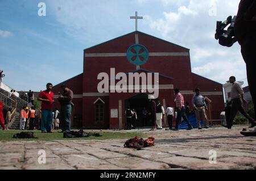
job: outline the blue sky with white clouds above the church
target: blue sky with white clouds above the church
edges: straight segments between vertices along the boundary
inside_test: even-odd
[[[46,3],[46,16],[38,3]],[[44,90],[83,70],[83,50],[135,30],[191,49],[192,71],[225,83],[246,81],[240,47],[221,47],[216,21],[237,14],[239,0],[1,0],[0,69],[16,90]],[[216,9],[215,9],[216,7]],[[212,11],[213,10],[213,11]],[[210,13],[209,13],[210,12]],[[213,14],[212,14],[213,13]]]

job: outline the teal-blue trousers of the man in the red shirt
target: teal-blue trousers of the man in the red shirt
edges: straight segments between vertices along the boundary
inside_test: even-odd
[[[41,131],[52,130],[52,110],[42,110]]]

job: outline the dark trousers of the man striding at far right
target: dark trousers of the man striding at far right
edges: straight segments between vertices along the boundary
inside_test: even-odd
[[[254,121],[252,117],[250,117],[245,109],[242,106],[242,99],[241,98],[237,98],[237,99],[232,99],[232,107],[231,107],[231,111],[230,111],[230,116],[229,116],[229,120],[228,120],[228,127],[232,127],[233,125],[233,120],[234,117],[236,117],[237,115],[237,111],[240,111],[241,114],[243,116],[245,116],[251,123]]]

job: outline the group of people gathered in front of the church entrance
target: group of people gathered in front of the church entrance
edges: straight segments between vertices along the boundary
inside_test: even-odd
[[[154,131],[156,129],[163,129],[163,127],[167,128],[169,127],[172,131],[179,131],[179,124],[181,123],[181,118],[187,123],[188,129],[193,129],[191,123],[189,123],[188,115],[191,114],[191,112],[196,113],[196,120],[198,129],[202,129],[200,121],[203,119],[205,128],[209,128],[209,122],[207,119],[207,115],[205,113],[205,110],[207,110],[207,104],[205,103],[204,96],[200,94],[200,89],[196,89],[196,95],[192,98],[192,105],[193,110],[190,109],[189,103],[184,103],[183,95],[180,93],[179,89],[175,89],[175,108],[171,107],[170,104],[167,104],[166,110],[164,110],[164,107],[160,103],[159,99],[155,99],[154,96],[150,96],[149,104],[148,104],[148,110],[144,107],[142,110],[142,122],[143,124],[146,123],[144,121],[145,119],[149,119],[150,123],[152,124],[151,131]],[[167,116],[168,125],[163,121],[163,116]],[[126,116],[126,129],[131,129],[132,127],[136,128],[136,122],[137,122],[137,113],[135,110],[131,110],[130,107],[127,107],[125,110],[125,116]],[[172,120],[175,117],[176,124],[175,127],[172,127]],[[133,126],[134,125],[134,126]]]

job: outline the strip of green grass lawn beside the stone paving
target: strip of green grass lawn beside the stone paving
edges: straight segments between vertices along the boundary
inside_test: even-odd
[[[41,131],[32,131],[34,132],[34,136],[38,137],[38,139],[18,139],[13,138],[13,135],[16,133],[20,133],[20,130],[6,130],[0,131],[0,141],[54,141],[54,140],[112,140],[112,139],[129,139],[135,136],[146,138],[146,135],[139,132],[131,132],[131,133],[121,133],[121,132],[104,132],[104,131],[85,131],[101,133],[102,136],[95,137],[89,136],[84,138],[63,138],[63,133],[58,133],[54,131],[54,133],[41,133]],[[25,131],[25,132],[28,132]]]

